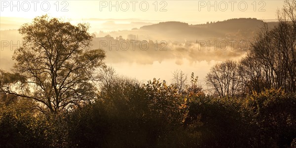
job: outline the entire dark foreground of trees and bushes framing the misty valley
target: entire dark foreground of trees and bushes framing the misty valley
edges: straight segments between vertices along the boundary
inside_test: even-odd
[[[296,0],[248,54],[173,84],[115,74],[90,49],[86,24],[40,16],[24,24],[11,72],[0,71],[0,148],[295,148]]]

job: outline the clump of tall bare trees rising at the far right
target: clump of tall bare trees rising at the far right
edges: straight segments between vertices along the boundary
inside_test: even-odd
[[[240,62],[240,72],[251,91],[283,88],[296,92],[296,0],[285,0],[277,14],[278,25],[270,29],[264,24],[250,53]]]

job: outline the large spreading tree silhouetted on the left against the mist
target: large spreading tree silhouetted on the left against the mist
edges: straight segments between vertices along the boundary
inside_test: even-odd
[[[67,110],[95,99],[94,72],[104,66],[105,52],[91,50],[89,26],[62,22],[47,15],[24,24],[19,33],[23,45],[15,50],[13,82],[2,83],[1,91],[39,103],[40,111]],[[1,81],[3,81],[1,79]]]

